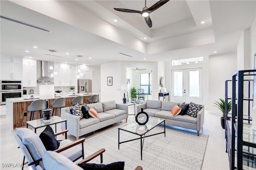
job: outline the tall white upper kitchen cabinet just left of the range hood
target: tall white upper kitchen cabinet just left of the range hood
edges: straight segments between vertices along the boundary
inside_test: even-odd
[[[36,87],[36,60],[23,59],[23,87]]]

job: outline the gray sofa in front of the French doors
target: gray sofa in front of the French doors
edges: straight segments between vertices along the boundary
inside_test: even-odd
[[[199,136],[204,124],[204,106],[198,111],[196,117],[191,117],[189,115],[173,116],[170,111],[175,105],[179,106],[179,103],[147,100],[144,104],[137,105],[136,111],[138,113],[143,108],[143,111],[148,113],[149,116],[164,118],[167,125],[196,130],[197,136]]]

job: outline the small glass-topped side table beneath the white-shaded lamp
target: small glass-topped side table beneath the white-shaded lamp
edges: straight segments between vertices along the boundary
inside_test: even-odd
[[[36,133],[36,129],[40,128],[40,127],[44,127],[47,125],[55,125],[55,133],[56,133],[56,125],[57,123],[62,123],[65,122],[66,125],[66,129],[67,129],[67,120],[66,119],[62,119],[61,117],[58,116],[52,116],[50,122],[44,122],[44,119],[36,119],[36,120],[31,120],[31,121],[27,121],[27,128],[28,125],[30,125],[32,128],[35,129],[35,133]]]

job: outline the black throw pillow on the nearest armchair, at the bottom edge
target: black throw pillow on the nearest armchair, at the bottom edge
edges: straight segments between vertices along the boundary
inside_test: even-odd
[[[113,162],[111,164],[78,164],[84,170],[124,170],[124,162]]]

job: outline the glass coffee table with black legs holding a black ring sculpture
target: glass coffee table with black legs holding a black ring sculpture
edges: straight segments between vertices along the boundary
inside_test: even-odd
[[[164,123],[164,131],[163,132],[145,136],[146,133],[148,133],[150,130],[154,129],[154,127],[156,127],[157,125],[160,125],[161,123]],[[131,139],[128,141],[120,142],[120,130],[130,132],[135,135],[139,135],[140,137],[138,137],[136,139]],[[118,150],[119,150],[120,144],[140,139],[140,157],[142,160],[142,149],[143,149],[145,137],[150,137],[150,136],[158,135],[161,133],[164,133],[164,137],[165,137],[165,119],[158,118],[158,117],[149,117],[146,125],[138,125],[138,123],[136,123],[136,121],[130,122],[127,125],[125,125],[124,127],[118,128]],[[142,141],[142,138],[143,138],[143,141]]]

